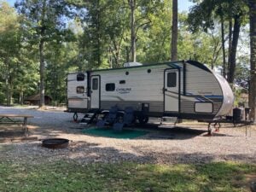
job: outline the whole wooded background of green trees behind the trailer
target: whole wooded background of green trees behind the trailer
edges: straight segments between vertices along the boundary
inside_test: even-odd
[[[70,72],[190,59],[218,69],[238,98],[249,93],[255,119],[255,0],[194,0],[189,12],[177,3],[0,1],[0,103],[66,102]]]

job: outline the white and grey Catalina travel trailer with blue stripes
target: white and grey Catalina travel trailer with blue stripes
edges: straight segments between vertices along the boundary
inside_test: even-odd
[[[113,106],[148,117],[214,119],[232,109],[228,82],[198,61],[92,70],[67,75],[67,112],[101,113]]]

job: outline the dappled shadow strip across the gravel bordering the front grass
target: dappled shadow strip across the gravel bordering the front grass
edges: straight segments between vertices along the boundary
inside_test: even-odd
[[[13,147],[12,147],[13,146]],[[175,146],[173,147],[175,149]],[[234,160],[246,163],[256,163],[253,154],[211,154],[205,153],[177,153],[172,151],[155,152],[143,147],[131,147],[125,152],[113,147],[102,147],[97,143],[84,141],[71,142],[67,148],[43,148],[37,143],[11,143],[0,145],[1,160],[19,160],[20,163],[38,164],[58,160],[72,160],[79,163],[120,163],[131,161],[137,163],[166,163],[166,164],[200,164],[216,161]]]

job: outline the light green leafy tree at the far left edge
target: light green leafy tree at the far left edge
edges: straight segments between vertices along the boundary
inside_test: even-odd
[[[0,74],[4,80],[6,104],[13,103],[14,82],[20,71],[20,25],[15,9],[6,2],[0,2]]]

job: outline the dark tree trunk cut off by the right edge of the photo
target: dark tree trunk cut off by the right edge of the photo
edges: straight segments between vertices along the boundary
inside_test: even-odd
[[[250,38],[251,38],[251,81],[249,92],[250,119],[256,123],[256,2],[249,0]]]

